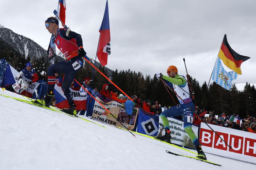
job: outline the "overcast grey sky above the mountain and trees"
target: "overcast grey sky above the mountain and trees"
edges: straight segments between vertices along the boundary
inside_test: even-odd
[[[54,16],[58,0],[0,0],[0,24],[47,49],[44,22]],[[106,0],[66,0],[66,25],[81,34],[88,56],[95,59]],[[234,83],[256,83],[255,0],[109,0],[110,69],[166,74],[175,65],[202,85],[208,83],[224,34],[240,55]],[[97,60],[98,61],[98,60]],[[227,67],[226,71],[231,71]]]

